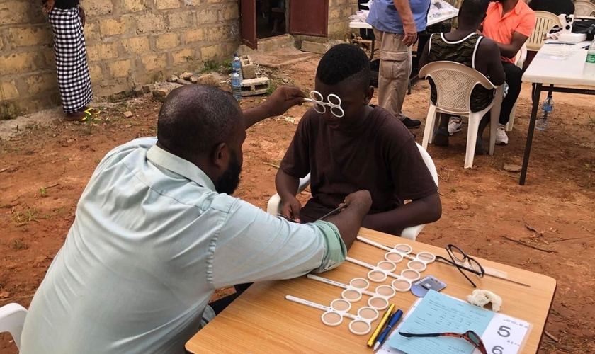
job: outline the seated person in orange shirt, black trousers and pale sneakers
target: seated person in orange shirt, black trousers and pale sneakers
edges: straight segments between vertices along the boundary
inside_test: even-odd
[[[523,70],[514,64],[516,54],[528,40],[536,25],[536,15],[523,0],[491,0],[485,19],[478,32],[496,42],[502,55],[502,66],[506,73],[509,89],[500,110],[500,120],[496,135],[496,144],[508,144],[504,125],[509,122],[510,113],[521,93]],[[459,125],[460,123],[455,123]],[[451,129],[449,123],[448,130]],[[480,132],[481,133],[481,132]]]

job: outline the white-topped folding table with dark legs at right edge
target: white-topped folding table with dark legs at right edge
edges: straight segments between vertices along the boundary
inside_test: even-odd
[[[535,59],[533,59],[525,74],[523,74],[523,82],[531,82],[533,84],[531,94],[533,109],[531,110],[531,120],[527,132],[523,169],[521,169],[521,180],[519,181],[520,185],[525,185],[529,155],[531,154],[531,143],[533,142],[533,132],[535,131],[537,112],[541,101],[541,92],[547,91],[550,94],[552,92],[563,92],[595,95],[595,76],[583,75],[584,62],[587,59],[587,50],[584,47],[589,44],[589,42],[581,42],[572,48],[568,48],[565,45],[546,43],[541,47]],[[555,52],[558,54],[556,55]],[[591,86],[593,89],[568,86]]]

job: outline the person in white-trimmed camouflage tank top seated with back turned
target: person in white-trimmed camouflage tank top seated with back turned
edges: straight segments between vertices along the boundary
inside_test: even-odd
[[[504,84],[504,68],[500,61],[498,45],[493,40],[476,33],[487,11],[489,0],[465,0],[460,6],[457,30],[450,33],[434,33],[426,42],[424,52],[419,59],[419,68],[436,61],[458,62],[471,67],[487,76],[492,84]],[[436,86],[430,80],[431,100],[436,103]],[[479,112],[492,103],[494,91],[477,85],[471,94],[471,110]],[[460,119],[460,118],[459,118]],[[489,123],[486,115],[480,124],[483,132]],[[460,129],[460,128],[459,128]],[[448,115],[441,115],[440,127],[434,137],[434,144],[448,147]],[[477,136],[476,154],[483,154],[481,135]]]

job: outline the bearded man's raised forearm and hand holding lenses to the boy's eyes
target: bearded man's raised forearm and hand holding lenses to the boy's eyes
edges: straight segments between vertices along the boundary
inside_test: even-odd
[[[282,115],[304,102],[305,94],[295,86],[279,86],[264,103],[244,110],[246,129],[266,118]]]

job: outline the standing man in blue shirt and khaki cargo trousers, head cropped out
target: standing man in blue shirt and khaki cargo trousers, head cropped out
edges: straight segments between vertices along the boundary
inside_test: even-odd
[[[399,118],[409,129],[419,120],[402,113],[412,70],[411,46],[417,33],[426,30],[431,0],[374,0],[368,15],[380,43],[378,105]]]

